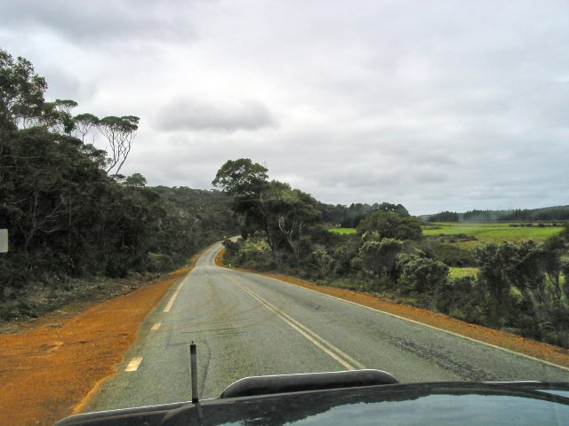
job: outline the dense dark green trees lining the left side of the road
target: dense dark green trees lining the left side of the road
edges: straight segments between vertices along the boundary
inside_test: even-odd
[[[0,50],[0,228],[11,243],[0,256],[0,295],[17,299],[20,291],[69,277],[165,271],[236,233],[222,193],[148,188],[138,173],[124,185],[116,173],[109,177],[107,154],[69,136],[77,122],[84,137],[99,120],[73,120],[76,102],[45,102],[46,87],[26,59]],[[114,132],[118,168],[138,121],[101,121]]]

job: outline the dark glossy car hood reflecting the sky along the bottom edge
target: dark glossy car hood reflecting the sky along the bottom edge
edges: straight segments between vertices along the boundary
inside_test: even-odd
[[[569,424],[569,383],[416,383],[317,390],[68,417],[57,426]]]

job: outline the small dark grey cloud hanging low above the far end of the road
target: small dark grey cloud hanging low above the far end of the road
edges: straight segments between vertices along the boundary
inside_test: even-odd
[[[260,130],[276,127],[268,107],[257,100],[205,102],[201,99],[173,99],[156,115],[158,130]]]

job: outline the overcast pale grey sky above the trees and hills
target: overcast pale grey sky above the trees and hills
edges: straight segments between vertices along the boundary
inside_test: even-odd
[[[140,116],[149,185],[248,157],[331,203],[569,204],[565,1],[0,0],[0,48]]]

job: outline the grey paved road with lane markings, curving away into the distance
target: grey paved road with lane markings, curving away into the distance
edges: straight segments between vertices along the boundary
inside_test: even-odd
[[[248,375],[378,368],[401,382],[569,381],[569,369],[501,351],[260,275],[214,265],[220,245],[164,296],[85,411],[200,398]],[[130,370],[130,371],[125,371]]]

